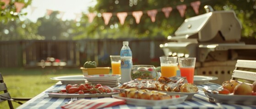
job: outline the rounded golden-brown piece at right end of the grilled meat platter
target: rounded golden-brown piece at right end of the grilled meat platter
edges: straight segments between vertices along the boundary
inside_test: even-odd
[[[198,87],[195,84],[184,83],[180,86],[180,92],[197,92]]]

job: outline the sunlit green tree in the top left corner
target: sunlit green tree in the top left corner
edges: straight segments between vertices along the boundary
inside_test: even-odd
[[[5,8],[0,8],[0,40],[43,40],[44,37],[37,35],[38,23],[33,23],[29,20],[20,20],[27,13],[16,13],[15,2],[21,2],[25,5],[31,4],[32,0],[10,0],[10,3]],[[4,2],[0,2],[0,6],[5,5]]]

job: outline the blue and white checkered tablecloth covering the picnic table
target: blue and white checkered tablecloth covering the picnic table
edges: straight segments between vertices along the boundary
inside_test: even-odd
[[[203,85],[197,85],[198,87],[204,86],[218,86],[218,84],[208,83]],[[55,84],[49,89],[65,88],[65,84]],[[46,89],[46,90],[49,90]],[[110,96],[109,96],[110,97]],[[79,98],[79,99],[100,99],[104,97],[93,98]],[[107,98],[107,97],[105,97]],[[70,98],[52,98],[48,94],[38,94],[33,99],[22,104],[17,109],[61,109],[61,106],[65,104]],[[199,90],[198,94],[195,94],[192,99],[185,100],[182,104],[166,105],[166,106],[154,106],[143,107],[130,104],[117,105],[108,107],[105,109],[256,109],[256,105],[239,105],[239,104],[215,104],[210,103],[207,96],[202,90]]]

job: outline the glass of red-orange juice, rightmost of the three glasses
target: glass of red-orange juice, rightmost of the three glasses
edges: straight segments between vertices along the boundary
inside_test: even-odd
[[[196,58],[179,58],[180,75],[186,77],[188,83],[194,83]]]

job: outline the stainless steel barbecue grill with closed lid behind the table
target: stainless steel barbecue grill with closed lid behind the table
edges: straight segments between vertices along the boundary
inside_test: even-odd
[[[196,57],[195,74],[216,76],[218,80],[211,82],[222,84],[231,78],[238,50],[256,49],[240,42],[241,29],[234,11],[208,11],[185,19],[160,48],[165,56]]]

